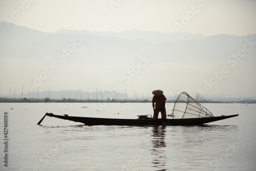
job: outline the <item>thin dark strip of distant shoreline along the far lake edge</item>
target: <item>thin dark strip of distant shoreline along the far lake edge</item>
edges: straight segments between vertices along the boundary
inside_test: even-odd
[[[242,100],[242,101],[212,101],[203,100],[199,103],[256,103],[256,100]],[[7,99],[0,98],[0,103],[151,103],[151,100],[78,100],[78,99]],[[167,100],[166,103],[175,103],[175,100]]]

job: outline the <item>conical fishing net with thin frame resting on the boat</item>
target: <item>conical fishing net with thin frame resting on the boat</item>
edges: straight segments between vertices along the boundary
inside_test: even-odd
[[[182,92],[176,100],[173,116],[176,119],[214,117],[209,110],[190,97],[186,92]]]

